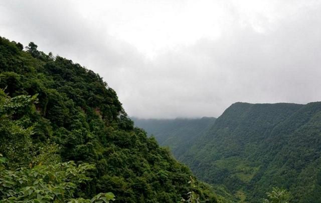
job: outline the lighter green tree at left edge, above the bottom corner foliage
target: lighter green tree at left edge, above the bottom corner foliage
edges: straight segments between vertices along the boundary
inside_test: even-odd
[[[32,150],[33,124],[29,115],[35,110],[31,105],[35,96],[19,95],[10,98],[0,89],[0,151],[5,155],[9,168],[28,164]],[[14,119],[13,119],[14,118]]]

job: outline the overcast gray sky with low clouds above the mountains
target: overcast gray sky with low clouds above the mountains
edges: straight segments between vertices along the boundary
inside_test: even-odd
[[[321,0],[1,0],[0,35],[98,72],[131,116],[321,100]]]

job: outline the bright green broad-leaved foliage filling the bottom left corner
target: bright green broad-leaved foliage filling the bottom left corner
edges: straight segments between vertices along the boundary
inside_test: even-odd
[[[15,171],[2,170],[0,197],[2,202],[66,202],[74,196],[78,185],[91,179],[86,171],[93,168],[90,164],[77,166],[69,161]]]

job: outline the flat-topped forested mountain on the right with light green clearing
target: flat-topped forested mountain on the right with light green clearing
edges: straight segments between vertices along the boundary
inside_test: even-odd
[[[171,130],[162,133],[172,137]],[[262,202],[278,187],[290,191],[290,202],[321,202],[321,102],[237,102],[193,144],[184,140],[180,160],[240,201]]]

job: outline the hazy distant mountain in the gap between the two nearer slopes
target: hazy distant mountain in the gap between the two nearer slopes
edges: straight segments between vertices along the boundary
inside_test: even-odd
[[[161,146],[169,146],[176,158],[185,154],[194,140],[207,132],[214,124],[215,117],[139,119],[132,117],[135,126],[153,135]]]

